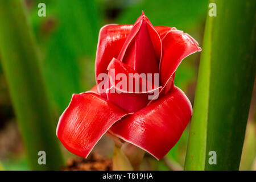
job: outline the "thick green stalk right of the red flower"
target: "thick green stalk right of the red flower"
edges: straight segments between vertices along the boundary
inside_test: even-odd
[[[185,170],[238,170],[255,78],[256,2],[212,2],[217,16],[207,17]]]

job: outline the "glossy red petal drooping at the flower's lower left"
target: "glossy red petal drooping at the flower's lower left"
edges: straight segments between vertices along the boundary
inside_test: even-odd
[[[126,114],[97,94],[73,94],[59,119],[56,134],[69,151],[86,158],[102,135]]]

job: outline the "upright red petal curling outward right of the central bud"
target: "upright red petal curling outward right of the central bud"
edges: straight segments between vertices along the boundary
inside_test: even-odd
[[[194,52],[201,51],[196,40],[180,30],[170,30],[162,39],[163,57],[160,63],[160,80],[164,86],[164,93],[172,87],[171,76],[181,61]]]

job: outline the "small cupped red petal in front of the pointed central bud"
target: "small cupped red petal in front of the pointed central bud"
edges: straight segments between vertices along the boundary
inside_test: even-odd
[[[117,59],[110,62],[108,70],[111,88],[107,91],[107,98],[128,112],[142,109],[150,101],[148,96],[159,93],[158,86],[147,81],[146,77],[139,76],[133,68]],[[118,78],[117,75],[121,74],[123,77]],[[129,80],[129,74],[134,74],[133,81]]]

